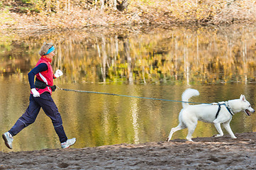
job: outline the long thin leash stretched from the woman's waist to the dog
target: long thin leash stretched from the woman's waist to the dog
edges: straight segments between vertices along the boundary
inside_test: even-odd
[[[62,91],[74,91],[74,92],[89,93],[89,94],[106,94],[106,95],[111,95],[111,96],[143,98],[143,99],[150,99],[150,100],[156,100],[156,101],[172,101],[172,102],[193,103],[193,104],[212,104],[212,103],[196,103],[196,102],[191,102],[191,101],[174,101],[174,100],[162,99],[162,98],[147,98],[147,97],[140,97],[140,96],[128,96],[128,95],[123,95],[123,94],[108,94],[108,93],[97,92],[97,91],[81,91],[81,90],[74,90],[74,89],[63,89],[63,88],[59,88],[58,86],[57,86],[57,89],[62,90]]]

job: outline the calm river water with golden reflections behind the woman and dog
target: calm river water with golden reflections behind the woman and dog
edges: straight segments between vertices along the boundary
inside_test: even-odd
[[[52,68],[64,72],[55,80],[60,88],[174,101],[194,88],[200,92],[191,98],[194,102],[228,101],[244,94],[255,108],[255,35],[253,26],[1,35],[1,133],[28,107],[27,74],[45,41],[56,47]],[[52,94],[67,136],[77,137],[75,148],[164,141],[178,125],[182,103],[126,96],[62,90]],[[255,120],[254,114],[238,113],[230,125],[234,133],[255,132]],[[193,137],[216,133],[214,125],[199,123]],[[187,130],[180,130],[173,139],[186,136]],[[9,151],[4,142],[0,147]],[[35,123],[14,137],[12,151],[46,148],[60,148],[60,143],[50,118],[40,111]]]

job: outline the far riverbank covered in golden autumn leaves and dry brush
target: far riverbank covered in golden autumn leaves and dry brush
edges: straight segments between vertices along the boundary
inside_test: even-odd
[[[89,31],[147,30],[170,26],[220,26],[234,23],[255,23],[254,1],[129,1],[124,11],[99,6],[72,5],[69,11],[50,11],[13,4],[5,0],[0,8],[2,33],[44,33],[89,28]],[[99,29],[98,29],[99,28]]]

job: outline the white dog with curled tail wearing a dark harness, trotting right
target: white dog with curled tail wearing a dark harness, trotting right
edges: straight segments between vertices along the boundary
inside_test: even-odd
[[[255,112],[251,108],[250,103],[246,101],[245,96],[241,94],[240,99],[223,101],[219,103],[211,104],[199,104],[199,105],[189,105],[189,98],[192,96],[199,96],[199,91],[195,89],[187,89],[182,94],[182,103],[183,109],[179,113],[179,125],[175,128],[172,128],[169,132],[169,137],[167,142],[171,140],[172,134],[177,130],[182,130],[188,128],[187,140],[192,141],[192,134],[196,128],[197,121],[203,121],[206,123],[214,123],[216,129],[218,130],[218,135],[216,137],[223,136],[223,131],[221,130],[221,123],[223,127],[227,130],[230,136],[235,139],[235,135],[230,128],[230,121],[232,116],[235,113],[240,111],[245,111],[247,115],[250,115],[250,112]]]

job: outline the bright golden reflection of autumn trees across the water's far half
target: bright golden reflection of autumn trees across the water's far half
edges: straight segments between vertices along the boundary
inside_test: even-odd
[[[40,35],[1,46],[1,74],[26,72],[45,41],[69,83],[218,84],[255,82],[255,27],[173,28],[148,34]],[[36,41],[35,41],[36,40]],[[11,40],[10,40],[11,41]],[[3,43],[3,42],[2,42]]]

